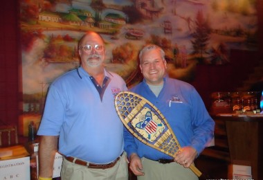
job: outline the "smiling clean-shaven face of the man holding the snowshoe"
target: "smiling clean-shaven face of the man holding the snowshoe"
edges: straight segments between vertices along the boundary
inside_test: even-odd
[[[158,49],[145,51],[141,57],[140,70],[147,84],[161,85],[165,75],[166,61]]]

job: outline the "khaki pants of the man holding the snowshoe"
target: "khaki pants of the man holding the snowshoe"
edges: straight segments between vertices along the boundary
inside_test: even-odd
[[[138,180],[198,180],[192,170],[178,163],[162,164],[146,158],[142,158],[141,161],[145,175],[138,176]]]

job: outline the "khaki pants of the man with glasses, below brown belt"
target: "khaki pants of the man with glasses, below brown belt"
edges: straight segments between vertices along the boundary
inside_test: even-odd
[[[126,154],[120,157],[120,160],[112,168],[105,170],[87,168],[83,165],[71,163],[64,159],[62,163],[62,180],[127,180],[128,169]]]

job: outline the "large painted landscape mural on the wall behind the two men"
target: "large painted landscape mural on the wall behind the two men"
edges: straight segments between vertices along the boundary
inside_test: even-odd
[[[128,85],[140,80],[146,43],[166,54],[173,78],[190,80],[197,64],[228,63],[230,48],[256,48],[255,0],[20,0],[23,124],[39,124],[46,91],[79,66],[77,42],[87,30],[105,39],[105,67]]]

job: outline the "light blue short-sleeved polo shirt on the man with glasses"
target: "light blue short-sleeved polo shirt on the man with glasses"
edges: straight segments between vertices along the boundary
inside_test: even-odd
[[[49,87],[38,135],[60,136],[59,152],[92,163],[109,163],[123,152],[123,123],[114,98],[127,87],[105,70],[100,89],[82,67],[65,73]],[[95,83],[95,84],[94,84]]]

